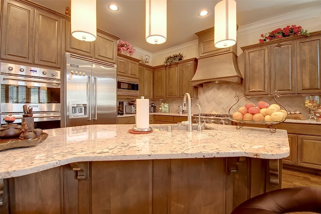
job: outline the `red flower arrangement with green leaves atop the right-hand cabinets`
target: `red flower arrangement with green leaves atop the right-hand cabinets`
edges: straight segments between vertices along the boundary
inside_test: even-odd
[[[267,33],[267,34],[261,34],[261,37],[263,39],[259,39],[260,43],[264,43],[266,41],[271,41],[272,39],[280,39],[282,37],[289,37],[291,35],[305,35],[310,36],[310,33],[307,32],[307,30],[303,30],[301,26],[296,27],[295,25],[292,26],[286,26],[285,28],[278,28],[274,31]]]

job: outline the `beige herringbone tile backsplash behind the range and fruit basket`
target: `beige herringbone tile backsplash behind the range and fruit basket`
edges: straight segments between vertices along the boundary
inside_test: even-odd
[[[205,84],[203,88],[199,88],[199,98],[192,100],[192,113],[198,113],[198,109],[194,108],[194,105],[199,104],[201,106],[202,113],[218,113],[227,114],[229,108],[236,103],[235,93],[244,93],[244,86],[237,83],[217,83],[217,84]],[[264,97],[240,97],[240,101],[231,109],[231,113],[236,111],[239,107],[245,106],[247,102],[253,102],[257,104],[258,101],[265,101],[269,104],[275,103],[273,96]],[[303,107],[305,97],[302,96],[286,96],[282,95],[276,100],[282,104],[287,111],[300,111],[303,115],[307,115]],[[161,100],[151,100],[156,105],[161,103]],[[178,106],[183,105],[183,99],[164,99],[163,102],[170,104],[170,112],[178,112]]]

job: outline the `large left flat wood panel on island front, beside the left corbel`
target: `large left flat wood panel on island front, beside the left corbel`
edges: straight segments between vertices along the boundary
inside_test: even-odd
[[[152,212],[152,160],[92,162],[91,213]]]

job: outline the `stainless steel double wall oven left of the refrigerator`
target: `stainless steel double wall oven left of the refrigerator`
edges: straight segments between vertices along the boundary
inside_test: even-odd
[[[1,124],[13,114],[21,123],[23,105],[33,108],[35,128],[61,126],[60,71],[1,63]]]

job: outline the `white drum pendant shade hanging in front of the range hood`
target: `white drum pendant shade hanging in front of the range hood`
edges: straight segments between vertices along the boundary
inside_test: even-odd
[[[236,44],[236,2],[223,0],[214,9],[214,45],[227,48]]]

